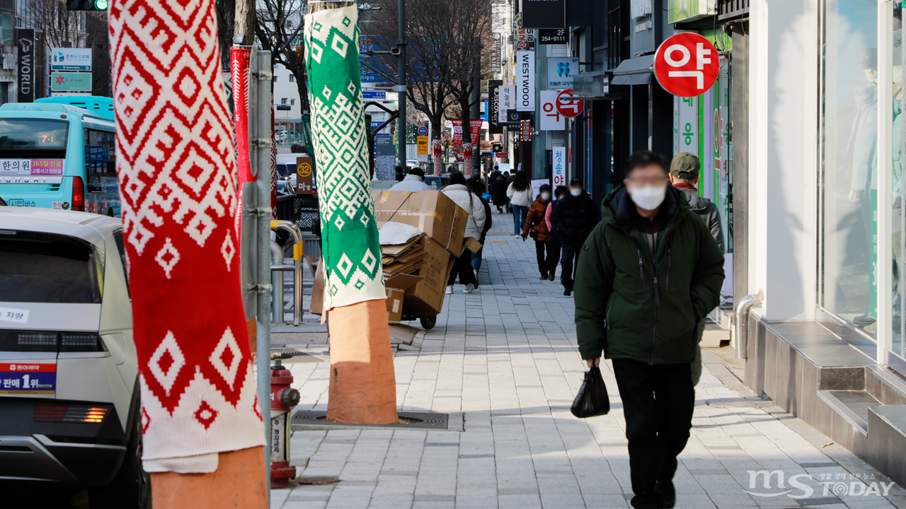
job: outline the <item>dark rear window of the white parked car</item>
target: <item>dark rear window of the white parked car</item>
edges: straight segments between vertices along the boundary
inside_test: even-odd
[[[0,301],[100,303],[103,251],[66,235],[0,231]]]

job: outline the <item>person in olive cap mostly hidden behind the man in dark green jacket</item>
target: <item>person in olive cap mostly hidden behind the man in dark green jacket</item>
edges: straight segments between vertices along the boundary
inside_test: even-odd
[[[714,240],[718,242],[720,253],[724,253],[724,228],[720,224],[720,213],[718,206],[706,197],[699,196],[699,169],[701,163],[699,158],[683,152],[673,157],[670,162],[670,182],[686,196],[689,201],[689,210],[696,213],[708,226]],[[711,312],[711,310],[708,310]],[[701,379],[701,337],[705,334],[705,322],[707,318],[702,318],[699,326],[696,328],[696,337],[699,347],[695,351],[695,360],[692,362],[692,386],[699,385]]]

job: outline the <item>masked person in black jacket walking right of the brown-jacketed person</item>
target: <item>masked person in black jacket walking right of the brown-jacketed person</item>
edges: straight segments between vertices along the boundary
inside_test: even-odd
[[[598,224],[598,207],[582,187],[582,180],[573,178],[569,183],[569,192],[557,201],[551,212],[551,223],[560,235],[560,281],[564,295],[569,296],[573,293],[579,250]]]

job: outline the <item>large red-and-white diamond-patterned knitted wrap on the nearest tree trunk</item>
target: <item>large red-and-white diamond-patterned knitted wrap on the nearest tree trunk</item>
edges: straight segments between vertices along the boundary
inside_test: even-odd
[[[214,0],[114,0],[110,33],[143,458],[262,446]]]

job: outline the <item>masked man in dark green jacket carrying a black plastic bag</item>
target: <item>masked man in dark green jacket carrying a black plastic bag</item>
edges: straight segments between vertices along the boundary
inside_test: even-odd
[[[724,257],[708,227],[668,186],[666,159],[648,150],[626,163],[582,245],[575,285],[579,352],[604,358],[622,399],[632,507],[676,504],[673,475],[686,447],[695,389],[696,328],[718,305]]]

